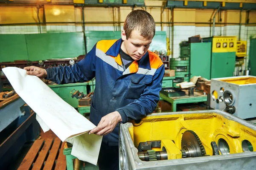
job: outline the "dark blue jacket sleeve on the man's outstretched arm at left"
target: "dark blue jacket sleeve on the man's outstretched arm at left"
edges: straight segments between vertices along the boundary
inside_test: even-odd
[[[46,79],[57,84],[67,84],[75,82],[86,82],[95,77],[96,66],[96,45],[86,54],[84,59],[69,66],[58,66],[47,68]]]

